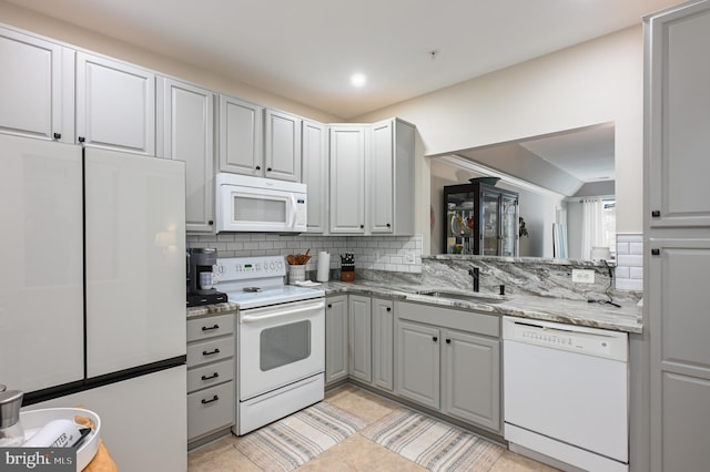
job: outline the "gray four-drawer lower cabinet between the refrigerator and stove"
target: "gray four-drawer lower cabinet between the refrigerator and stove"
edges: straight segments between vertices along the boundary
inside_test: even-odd
[[[187,320],[187,443],[234,424],[234,314]]]

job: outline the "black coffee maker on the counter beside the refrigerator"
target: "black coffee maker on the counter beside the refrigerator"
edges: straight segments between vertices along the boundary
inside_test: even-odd
[[[187,306],[220,304],[226,295],[214,288],[217,250],[209,247],[187,249]]]

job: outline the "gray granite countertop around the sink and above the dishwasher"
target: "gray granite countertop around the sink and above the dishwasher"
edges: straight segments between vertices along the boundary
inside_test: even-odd
[[[510,315],[521,318],[532,318],[547,321],[557,321],[567,325],[587,326],[591,328],[610,329],[625,332],[642,332],[640,304],[629,300],[620,300],[617,308],[608,304],[588,302],[586,300],[569,300],[565,298],[541,297],[535,295],[511,294],[506,295],[501,301],[495,304],[473,302],[466,300],[439,298],[419,295],[414,291],[459,291],[450,287],[434,286],[389,286],[384,287],[379,283],[366,280],[343,283],[328,281],[321,287],[326,296],[337,294],[362,294],[406,300],[426,302],[452,308],[473,309],[476,311],[496,315]],[[617,302],[617,300],[615,300]]]

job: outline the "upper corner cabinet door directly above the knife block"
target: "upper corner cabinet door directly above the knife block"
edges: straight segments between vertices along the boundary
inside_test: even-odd
[[[365,233],[365,127],[331,126],[331,233]]]

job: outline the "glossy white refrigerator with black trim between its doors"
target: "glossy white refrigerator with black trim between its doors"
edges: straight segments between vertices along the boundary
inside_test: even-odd
[[[0,383],[97,411],[121,470],[186,470],[184,173],[0,135]]]

